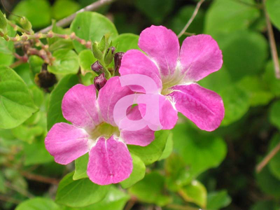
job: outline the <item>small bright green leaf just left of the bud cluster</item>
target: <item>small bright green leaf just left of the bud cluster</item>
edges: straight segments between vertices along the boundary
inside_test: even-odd
[[[96,61],[97,59],[93,56],[91,50],[81,51],[78,55],[78,62],[80,64],[80,71],[82,74],[85,75],[88,71],[93,72],[90,66]]]

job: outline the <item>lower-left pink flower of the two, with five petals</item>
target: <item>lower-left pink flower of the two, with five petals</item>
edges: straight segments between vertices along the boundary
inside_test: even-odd
[[[57,123],[45,138],[45,147],[55,162],[66,165],[85,153],[90,159],[87,175],[99,185],[118,183],[132,172],[132,158],[126,144],[146,146],[153,141],[154,132],[148,127],[139,131],[120,130],[113,120],[113,107],[127,94],[118,77],[107,81],[99,91],[94,85],[75,85],[62,100],[62,113],[67,123]],[[138,106],[127,114],[130,120],[141,119]]]

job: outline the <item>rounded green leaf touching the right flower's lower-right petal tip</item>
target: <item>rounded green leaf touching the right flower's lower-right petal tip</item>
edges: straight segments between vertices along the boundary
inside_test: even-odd
[[[225,106],[225,118],[221,125],[230,125],[239,120],[248,111],[250,96],[238,85],[230,85],[220,92]]]

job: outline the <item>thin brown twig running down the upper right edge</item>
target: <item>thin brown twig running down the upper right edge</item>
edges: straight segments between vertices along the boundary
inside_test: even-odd
[[[274,38],[274,34],[273,34],[272,24],[269,20],[267,10],[265,9],[265,1],[266,0],[262,0],[262,3],[263,3],[263,10],[265,11],[265,21],[267,23],[267,32],[268,32],[270,50],[272,53],[272,59],[273,59],[273,63],[274,63],[275,77],[277,79],[280,79],[279,58],[278,58],[278,53],[277,53],[277,49],[276,49],[276,43],[275,43],[275,38]]]

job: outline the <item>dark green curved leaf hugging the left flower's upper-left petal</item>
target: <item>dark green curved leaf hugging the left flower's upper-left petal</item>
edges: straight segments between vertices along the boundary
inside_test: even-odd
[[[76,84],[78,84],[78,77],[76,75],[67,75],[64,76],[64,78],[59,81],[55,89],[52,90],[47,113],[48,130],[50,130],[52,125],[55,125],[55,123],[67,123],[67,121],[62,116],[62,99],[64,94]]]

